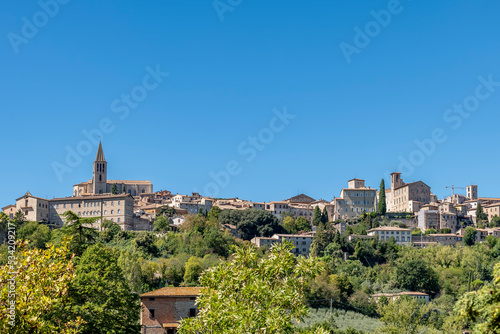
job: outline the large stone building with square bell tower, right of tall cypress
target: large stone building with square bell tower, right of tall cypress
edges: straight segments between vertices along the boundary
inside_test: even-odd
[[[403,182],[401,173],[391,174],[391,188],[385,190],[388,212],[410,212],[420,209],[431,202],[431,188],[422,181]],[[410,205],[410,201],[420,202],[418,206]]]

